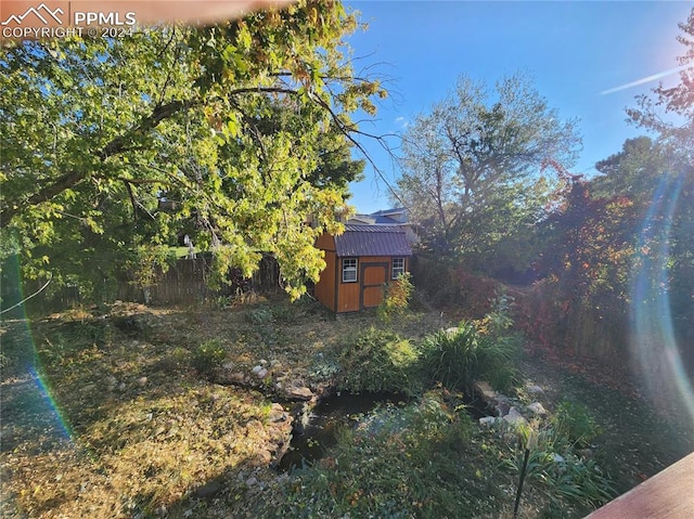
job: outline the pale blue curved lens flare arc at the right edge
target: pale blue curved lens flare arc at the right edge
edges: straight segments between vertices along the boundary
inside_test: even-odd
[[[632,356],[659,407],[684,408],[694,429],[694,392],[684,369],[670,306],[670,242],[684,181],[666,176],[643,220],[632,276]],[[680,405],[677,405],[680,404]]]

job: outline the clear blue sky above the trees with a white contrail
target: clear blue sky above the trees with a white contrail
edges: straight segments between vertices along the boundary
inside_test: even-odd
[[[626,122],[625,108],[658,80],[608,91],[677,67],[684,50],[676,40],[678,23],[686,21],[694,2],[346,0],[346,5],[369,24],[349,38],[357,70],[371,66],[391,91],[362,130],[402,131],[462,74],[493,85],[520,70],[562,118],[579,119],[583,152],[571,171],[591,174],[597,160],[643,133]],[[390,157],[376,143],[362,143],[395,182]],[[367,166],[367,179],[351,185],[350,202],[359,212],[389,205],[387,187],[374,179]]]

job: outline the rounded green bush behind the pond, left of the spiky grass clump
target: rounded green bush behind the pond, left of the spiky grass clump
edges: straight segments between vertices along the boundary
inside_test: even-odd
[[[416,350],[408,339],[374,327],[343,348],[339,386],[343,390],[414,394],[421,387]]]

